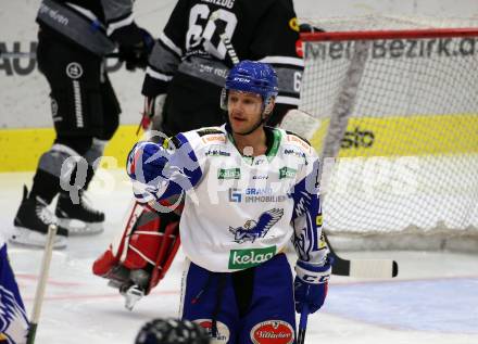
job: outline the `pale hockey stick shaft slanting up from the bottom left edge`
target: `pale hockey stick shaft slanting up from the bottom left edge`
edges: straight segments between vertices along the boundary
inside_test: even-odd
[[[32,313],[32,320],[28,329],[28,337],[26,342],[27,344],[35,343],[35,336],[37,334],[37,328],[38,328],[38,320],[40,319],[41,305],[43,304],[45,289],[47,285],[47,279],[50,271],[51,255],[53,252],[53,243],[54,243],[54,238],[56,235],[56,230],[58,227],[55,225],[50,225],[48,227],[47,243],[45,244],[45,253],[43,253],[43,259],[41,262],[40,277],[38,280],[37,290],[35,292],[34,310]]]

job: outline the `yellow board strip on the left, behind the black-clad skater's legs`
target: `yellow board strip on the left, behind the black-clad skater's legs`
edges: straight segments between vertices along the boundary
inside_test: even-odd
[[[121,126],[108,143],[104,156],[112,156],[118,167],[124,167],[129,150],[140,138],[136,136],[136,130],[134,125]],[[52,128],[0,130],[0,173],[35,170],[38,160],[51,148],[54,138]]]

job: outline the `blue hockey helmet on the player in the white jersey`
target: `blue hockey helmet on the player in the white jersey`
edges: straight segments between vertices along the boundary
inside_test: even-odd
[[[235,65],[227,75],[226,85],[221,94],[221,107],[227,110],[227,92],[238,90],[262,97],[263,112],[267,115],[269,104],[277,97],[277,74],[267,63],[244,60]]]

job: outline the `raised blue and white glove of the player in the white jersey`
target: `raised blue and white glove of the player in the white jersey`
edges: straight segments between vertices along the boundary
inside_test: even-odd
[[[158,187],[159,177],[163,177],[167,161],[167,153],[159,144],[138,142],[128,155],[128,176],[148,186]]]

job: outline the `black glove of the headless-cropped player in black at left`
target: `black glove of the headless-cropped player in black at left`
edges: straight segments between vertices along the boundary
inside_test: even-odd
[[[118,48],[120,61],[126,63],[126,69],[144,69],[148,65],[148,58],[154,46],[154,39],[143,28],[138,28],[138,42],[134,44],[121,44]]]

